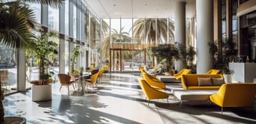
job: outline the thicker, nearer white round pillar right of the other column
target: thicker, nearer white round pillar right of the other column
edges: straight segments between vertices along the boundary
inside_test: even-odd
[[[197,0],[197,74],[204,74],[212,68],[213,57],[209,42],[213,42],[213,2]]]

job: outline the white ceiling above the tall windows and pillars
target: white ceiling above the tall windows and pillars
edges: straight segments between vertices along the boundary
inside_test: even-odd
[[[196,0],[84,0],[98,18],[174,18],[175,3],[186,2],[186,17],[195,15]]]

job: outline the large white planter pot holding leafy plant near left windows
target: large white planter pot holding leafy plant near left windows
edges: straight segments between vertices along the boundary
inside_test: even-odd
[[[32,85],[32,101],[48,101],[52,99],[52,84]]]

